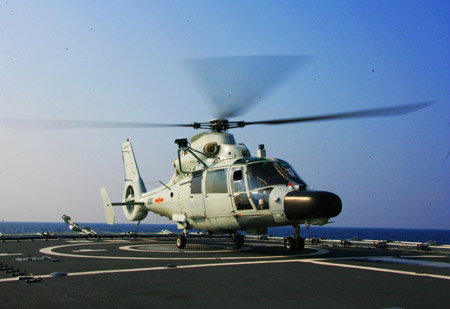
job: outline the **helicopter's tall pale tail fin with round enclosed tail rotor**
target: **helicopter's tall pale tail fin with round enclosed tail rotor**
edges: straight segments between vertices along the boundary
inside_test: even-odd
[[[131,142],[128,140],[122,144],[122,158],[125,167],[123,202],[139,201],[142,193],[146,192],[146,189],[139,174]],[[123,207],[123,212],[128,220],[141,221],[147,216],[148,211],[141,205],[127,205]]]

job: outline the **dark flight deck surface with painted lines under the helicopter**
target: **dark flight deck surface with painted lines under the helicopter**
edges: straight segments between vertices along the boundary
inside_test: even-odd
[[[0,243],[2,307],[447,308],[450,256],[174,238]],[[21,273],[21,274],[20,274]],[[26,276],[33,274],[33,278]],[[20,280],[19,278],[22,278]]]

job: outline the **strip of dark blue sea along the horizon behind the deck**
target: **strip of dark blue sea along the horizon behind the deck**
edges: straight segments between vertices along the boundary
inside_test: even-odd
[[[158,233],[162,230],[179,233],[176,225],[172,224],[115,224],[105,223],[78,223],[80,227],[89,227],[97,233]],[[46,222],[0,222],[0,234],[36,234],[47,232],[51,234],[71,233],[65,223]],[[293,228],[290,226],[269,228],[268,235],[292,236]],[[433,229],[399,229],[399,228],[356,228],[356,227],[316,227],[310,229],[301,227],[302,237],[327,239],[375,239],[393,241],[426,242],[433,241],[439,244],[450,244],[450,230]]]

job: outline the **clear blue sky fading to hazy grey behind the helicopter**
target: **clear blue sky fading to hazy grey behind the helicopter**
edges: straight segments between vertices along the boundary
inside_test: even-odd
[[[231,133],[343,201],[332,226],[450,229],[450,2],[0,2],[0,118],[192,123],[214,118],[185,59],[308,55],[233,120],[435,101],[400,117]],[[0,220],[106,222],[121,144],[148,189],[173,173],[185,128],[14,130],[0,123]],[[116,211],[116,222],[127,222]],[[149,215],[143,223],[166,223]]]

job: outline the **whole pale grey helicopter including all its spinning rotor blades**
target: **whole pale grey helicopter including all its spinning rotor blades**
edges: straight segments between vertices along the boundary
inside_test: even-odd
[[[175,139],[177,156],[173,175],[167,183],[147,191],[141,178],[130,140],[122,144],[125,169],[123,198],[111,202],[106,188],[100,189],[108,224],[114,224],[114,207],[122,207],[125,217],[138,224],[148,212],[165,216],[182,230],[176,245],[184,249],[189,232],[230,234],[236,247],[242,247],[247,234],[267,234],[269,227],[292,226],[285,237],[288,252],[303,250],[305,240],[300,225],[325,225],[342,211],[342,200],[332,192],[313,190],[280,158],[267,156],[264,145],[256,155],[237,143],[231,129],[250,125],[283,125],[303,122],[365,117],[398,116],[425,108],[434,102],[356,110],[350,112],[271,119],[230,121],[244,108],[258,101],[277,83],[304,64],[305,56],[239,56],[202,58],[188,64],[203,84],[219,116],[209,122],[185,124],[127,123],[75,120],[35,120],[42,128],[142,128],[183,127],[206,130],[187,138]],[[254,68],[258,68],[254,70]],[[263,68],[264,72],[261,72]],[[257,78],[255,78],[257,76]],[[26,120],[25,125],[33,125]],[[22,123],[23,124],[23,123]]]

